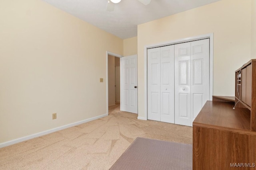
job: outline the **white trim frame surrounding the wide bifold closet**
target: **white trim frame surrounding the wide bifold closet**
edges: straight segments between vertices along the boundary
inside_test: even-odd
[[[209,73],[209,100],[212,100],[212,95],[213,95],[213,33],[208,33],[204,35],[198,35],[194,37],[188,37],[188,38],[183,38],[183,39],[177,39],[174,41],[168,41],[168,42],[163,42],[163,43],[157,43],[157,44],[152,44],[152,45],[146,45],[144,47],[144,77],[145,77],[145,87],[144,87],[144,117],[138,117],[138,119],[141,120],[148,120],[148,53],[147,50],[149,48],[155,48],[155,47],[161,47],[161,46],[166,46],[166,45],[173,45],[176,43],[185,43],[188,41],[196,41],[200,39],[205,39],[205,38],[210,38],[210,73]]]

